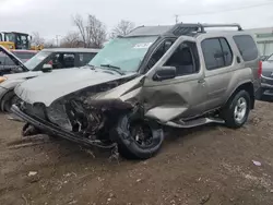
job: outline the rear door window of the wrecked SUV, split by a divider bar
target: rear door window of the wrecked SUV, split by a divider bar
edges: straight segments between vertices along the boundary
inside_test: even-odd
[[[206,70],[228,67],[233,63],[233,52],[225,38],[210,38],[201,43]]]

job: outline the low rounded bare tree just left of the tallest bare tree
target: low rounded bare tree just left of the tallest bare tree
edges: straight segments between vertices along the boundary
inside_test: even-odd
[[[76,47],[84,47],[83,41],[80,38],[79,33],[69,33],[62,39],[60,47],[63,48],[76,48]]]

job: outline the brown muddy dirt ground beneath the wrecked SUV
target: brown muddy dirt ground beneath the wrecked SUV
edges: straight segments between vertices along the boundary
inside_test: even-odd
[[[145,161],[109,160],[110,152],[61,140],[23,141],[22,125],[0,116],[1,205],[273,204],[273,102],[259,101],[236,131],[166,131]]]

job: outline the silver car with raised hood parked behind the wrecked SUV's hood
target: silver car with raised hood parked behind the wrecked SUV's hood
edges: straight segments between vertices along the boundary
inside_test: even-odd
[[[83,67],[98,52],[98,49],[44,49],[24,63],[4,47],[0,47],[0,52],[5,59],[3,68],[0,63],[0,71],[3,74],[0,76],[0,109],[1,111],[10,111],[11,105],[17,100],[13,89],[19,83],[40,74],[47,74],[51,70]],[[7,61],[12,62],[12,65],[7,65]]]

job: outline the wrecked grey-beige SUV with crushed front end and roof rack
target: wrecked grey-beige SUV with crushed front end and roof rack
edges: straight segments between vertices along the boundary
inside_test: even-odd
[[[22,83],[12,111],[27,122],[24,135],[146,159],[162,146],[163,125],[244,125],[259,93],[259,64],[252,36],[238,24],[141,26],[109,41],[88,67]]]

